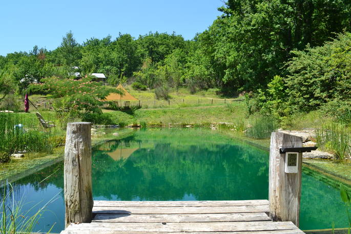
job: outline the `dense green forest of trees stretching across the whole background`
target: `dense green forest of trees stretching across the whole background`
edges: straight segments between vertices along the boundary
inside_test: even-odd
[[[113,86],[128,81],[160,97],[180,87],[218,88],[226,96],[252,91],[253,111],[278,117],[333,109],[340,100],[348,106],[350,0],[229,0],[218,10],[192,40],[150,32],[79,44],[70,31],[55,50],[34,46],[0,56],[0,101],[45,77],[80,72],[104,73]]]

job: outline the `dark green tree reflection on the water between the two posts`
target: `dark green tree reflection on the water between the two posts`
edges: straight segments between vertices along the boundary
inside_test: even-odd
[[[267,198],[265,153],[258,155],[251,147],[233,144],[148,145],[152,147],[135,151],[123,166],[102,151],[95,154],[94,196],[111,199],[112,194],[121,200],[179,200],[184,194],[198,200]]]

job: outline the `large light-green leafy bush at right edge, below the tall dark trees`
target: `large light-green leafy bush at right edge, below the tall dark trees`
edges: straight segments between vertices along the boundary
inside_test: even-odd
[[[287,63],[287,101],[299,111],[316,110],[326,102],[347,100],[351,90],[351,34],[338,35],[322,47],[295,51]]]

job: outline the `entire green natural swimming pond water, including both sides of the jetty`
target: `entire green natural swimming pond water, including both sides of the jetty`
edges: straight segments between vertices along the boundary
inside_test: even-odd
[[[268,198],[269,153],[207,129],[147,129],[93,147],[94,200]],[[47,178],[48,177],[48,178]],[[39,183],[40,182],[40,183]],[[13,183],[26,209],[47,206],[36,231],[64,229],[63,163]],[[303,173],[301,229],[347,226],[339,190]]]

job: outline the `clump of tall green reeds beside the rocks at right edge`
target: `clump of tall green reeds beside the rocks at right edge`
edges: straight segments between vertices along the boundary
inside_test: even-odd
[[[343,160],[350,154],[350,136],[343,125],[337,123],[322,125],[316,129],[315,134],[317,144],[333,152],[337,159]]]

